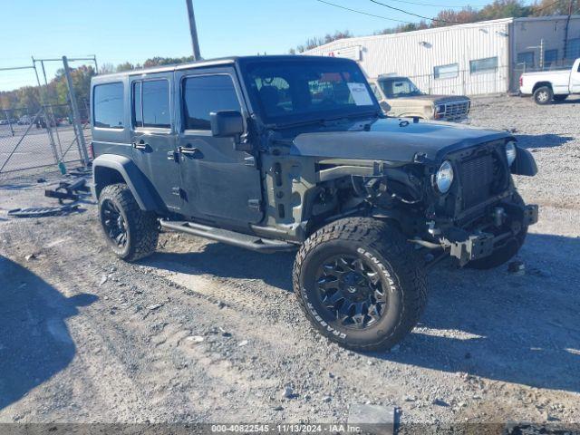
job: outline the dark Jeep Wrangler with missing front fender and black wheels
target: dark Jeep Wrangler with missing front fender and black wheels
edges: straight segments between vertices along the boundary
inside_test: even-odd
[[[160,228],[297,249],[305,316],[354,350],[411,332],[438,261],[502,265],[537,221],[512,180],[537,171],[516,138],[386,117],[347,59],[232,57],[97,76],[91,102],[93,194],[117,256],[149,256]]]

